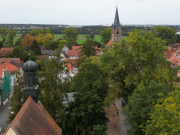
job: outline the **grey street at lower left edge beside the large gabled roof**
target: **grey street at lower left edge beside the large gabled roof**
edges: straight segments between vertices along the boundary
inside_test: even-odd
[[[6,130],[10,123],[7,123],[9,116],[9,106],[10,102],[6,103],[3,109],[0,109],[0,128],[1,130]]]

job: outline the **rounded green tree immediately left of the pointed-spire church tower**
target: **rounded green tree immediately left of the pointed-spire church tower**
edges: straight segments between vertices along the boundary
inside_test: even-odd
[[[111,39],[111,28],[106,28],[103,31],[101,31],[100,36],[101,36],[101,42],[107,44]]]

